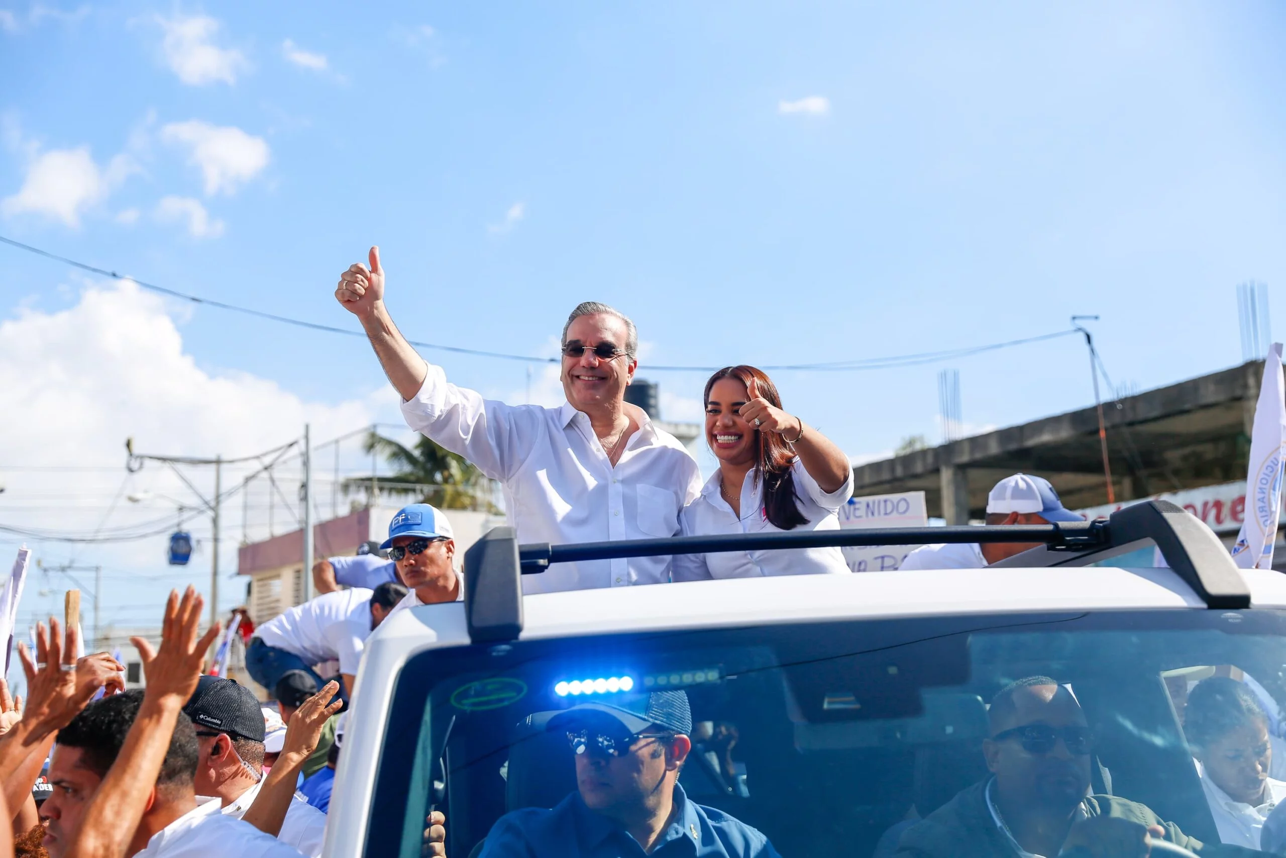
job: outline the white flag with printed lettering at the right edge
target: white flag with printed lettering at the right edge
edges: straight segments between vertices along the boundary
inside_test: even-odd
[[[1273,567],[1273,542],[1282,506],[1282,452],[1286,450],[1282,388],[1282,343],[1274,342],[1264,359],[1264,381],[1259,386],[1255,427],[1250,432],[1246,518],[1232,547],[1232,560],[1241,569]]]

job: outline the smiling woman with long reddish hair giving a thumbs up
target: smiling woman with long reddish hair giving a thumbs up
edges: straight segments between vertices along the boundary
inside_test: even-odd
[[[833,443],[782,410],[777,386],[754,367],[724,367],[706,382],[706,443],[719,459],[683,511],[685,536],[838,530],[853,468]],[[719,552],[674,558],[676,581],[847,572],[838,548]]]

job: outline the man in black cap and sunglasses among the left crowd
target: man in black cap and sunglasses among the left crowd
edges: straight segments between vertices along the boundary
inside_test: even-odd
[[[224,816],[240,819],[264,780],[266,723],[258,701],[231,679],[202,677],[183,711],[197,729],[201,749],[197,795],[219,799]],[[324,837],[325,814],[296,796],[276,839],[316,858]]]

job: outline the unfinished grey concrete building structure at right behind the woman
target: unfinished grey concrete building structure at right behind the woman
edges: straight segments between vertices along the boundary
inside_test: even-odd
[[[1263,361],[1103,404],[1118,500],[1246,479]],[[1069,508],[1107,503],[1093,408],[961,439],[853,470],[854,494],[923,490],[946,524],[981,518],[995,482],[1049,480]]]

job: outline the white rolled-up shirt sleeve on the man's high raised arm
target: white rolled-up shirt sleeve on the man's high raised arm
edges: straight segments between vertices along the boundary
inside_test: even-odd
[[[463,455],[493,480],[507,480],[530,453],[543,427],[540,410],[484,399],[448,382],[433,364],[419,392],[401,406],[406,426]]]

